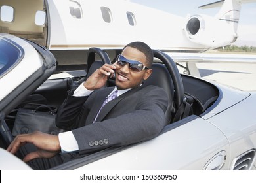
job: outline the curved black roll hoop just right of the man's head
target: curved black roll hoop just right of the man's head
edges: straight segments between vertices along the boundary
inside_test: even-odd
[[[167,70],[171,75],[175,88],[175,109],[177,109],[182,105],[184,100],[184,88],[179,70],[177,69],[175,62],[169,55],[161,52],[160,50],[153,50],[153,53],[155,58],[160,59],[165,64],[165,67],[167,67]]]

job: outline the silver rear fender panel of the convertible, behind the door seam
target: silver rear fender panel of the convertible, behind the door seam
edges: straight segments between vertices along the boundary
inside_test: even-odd
[[[227,157],[232,161],[248,150],[255,150],[256,113],[253,107],[255,100],[256,93],[251,92],[251,96],[247,99],[208,119],[211,124],[223,131],[228,139],[231,150]],[[232,161],[230,163],[233,163]],[[232,168],[232,165],[230,167]],[[255,167],[254,164],[254,169]]]

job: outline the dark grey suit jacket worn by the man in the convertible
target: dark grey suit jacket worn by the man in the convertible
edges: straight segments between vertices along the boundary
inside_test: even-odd
[[[107,103],[93,123],[112,90],[114,87],[95,90],[89,97],[74,97],[70,92],[59,108],[56,125],[72,130],[79,154],[151,139],[167,124],[167,93],[143,85]]]

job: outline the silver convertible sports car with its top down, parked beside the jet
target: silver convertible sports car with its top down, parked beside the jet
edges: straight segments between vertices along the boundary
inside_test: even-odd
[[[181,75],[167,54],[154,50],[154,56],[154,75],[146,84],[168,92],[169,125],[154,139],[107,148],[53,169],[256,169],[256,93]],[[83,71],[70,65],[66,72],[72,75],[62,76],[49,50],[0,34],[0,169],[30,169],[5,150],[13,139],[15,111],[26,103],[58,108],[68,90],[110,58],[91,48]]]

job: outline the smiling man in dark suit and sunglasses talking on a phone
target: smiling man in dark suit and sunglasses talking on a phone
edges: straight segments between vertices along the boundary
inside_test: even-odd
[[[37,131],[18,135],[7,150],[15,154],[20,146],[32,143],[37,150],[24,155],[27,162],[60,156],[60,152],[89,154],[156,137],[167,124],[167,93],[156,86],[143,85],[143,80],[152,73],[152,62],[153,53],[147,44],[127,44],[116,63],[103,65],[75,91],[68,93],[56,118],[56,125],[66,132],[48,135]],[[104,88],[108,77],[114,73],[116,86]],[[102,107],[106,99],[108,103]]]

